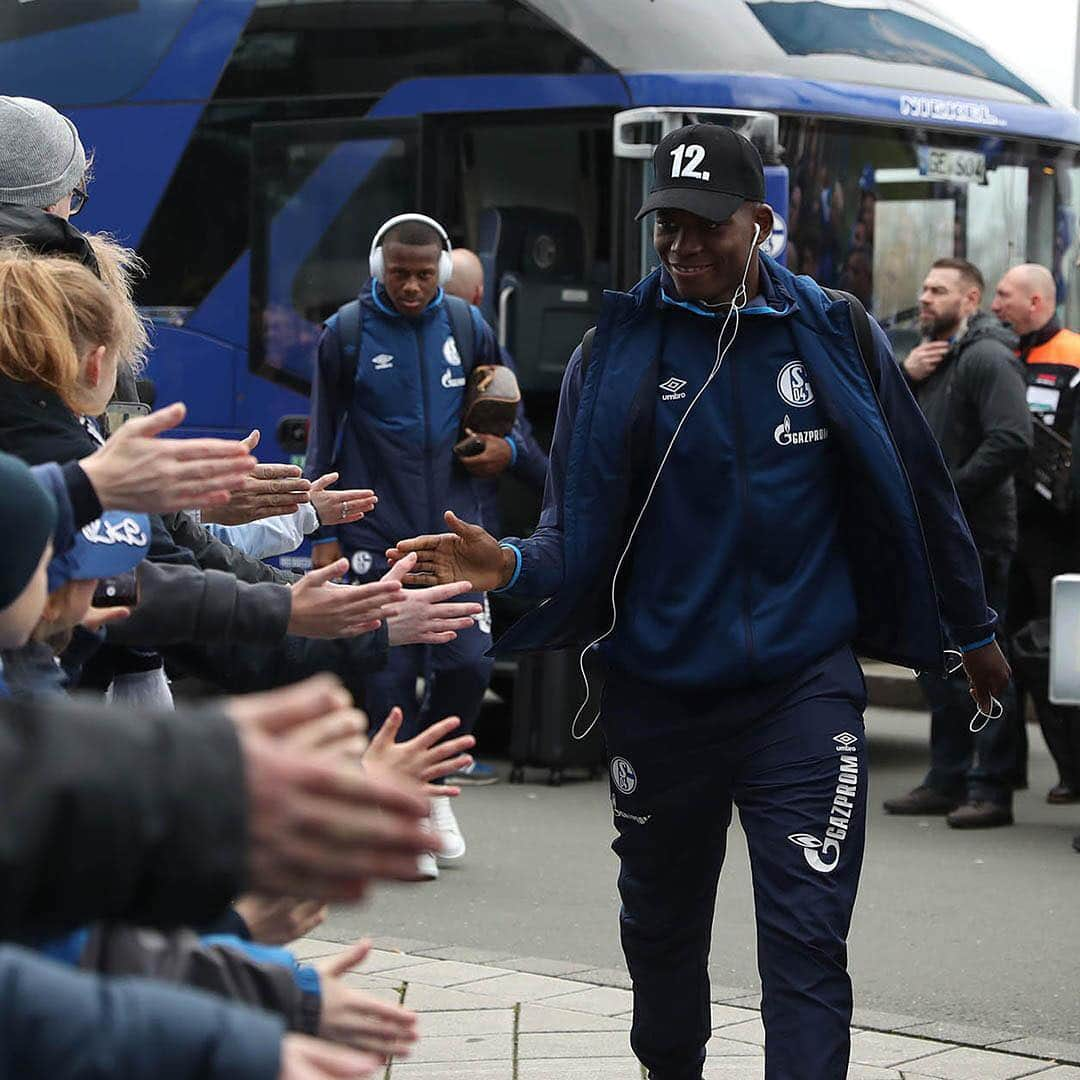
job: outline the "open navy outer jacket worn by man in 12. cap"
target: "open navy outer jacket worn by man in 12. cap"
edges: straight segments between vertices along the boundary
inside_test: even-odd
[[[942,672],[946,642],[961,648],[986,644],[996,617],[986,605],[978,555],[933,435],[880,328],[874,326],[875,384],[848,303],[831,300],[811,279],[796,278],[768,256],[761,256],[761,294],[778,313],[758,318],[774,319],[774,333],[786,335],[837,451],[837,540],[855,599],[852,644],[864,656]],[[527,540],[507,541],[518,552],[518,570],[508,588],[545,600],[503,635],[497,651],[586,645],[611,622],[615,567],[656,468],[656,409],[665,392],[661,363],[670,318],[660,278],[654,271],[629,294],[606,294],[584,378],[580,349],[570,360],[540,525]],[[748,359],[735,355],[738,349],[728,361]],[[802,434],[799,411],[785,410],[786,427],[782,420],[773,432],[778,447],[788,434]],[[770,418],[771,413],[754,417],[753,409],[743,417],[771,424]],[[747,457],[744,469],[753,512],[740,516],[733,550],[742,554],[730,575],[732,589],[744,591],[742,616],[753,627],[764,612],[782,610],[792,596],[805,593],[806,582],[797,565],[791,582],[783,582],[769,580],[768,568],[757,563],[789,521],[770,498],[775,476],[769,462]],[[693,499],[693,490],[686,498]],[[788,517],[797,512],[797,504],[783,510]],[[714,538],[687,535],[686,525],[664,523],[665,549],[652,554],[680,564],[685,588],[692,591],[700,583],[694,553]],[[785,653],[792,670],[829,645],[812,620],[797,617],[793,612],[784,629],[798,639]],[[783,675],[774,664],[755,664],[750,635],[742,644],[731,636],[723,647],[730,653],[723,661],[729,674],[719,686]]]

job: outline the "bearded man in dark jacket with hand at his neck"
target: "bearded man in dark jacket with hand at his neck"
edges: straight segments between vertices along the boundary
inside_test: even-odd
[[[1031,449],[1031,419],[1016,337],[978,310],[984,287],[967,259],[934,262],[919,297],[923,340],[904,361],[904,373],[953,475],[1001,635],[1016,551],[1014,477]],[[922,672],[919,684],[931,710],[930,771],[907,795],[887,799],[885,809],[947,814],[954,828],[1011,825],[1015,694],[1010,689],[1002,714],[972,734],[974,710],[959,672],[944,678]]]

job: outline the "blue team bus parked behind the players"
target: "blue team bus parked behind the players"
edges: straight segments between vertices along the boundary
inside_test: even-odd
[[[634,211],[691,120],[754,139],[767,248],[901,348],[942,255],[1045,264],[1080,323],[1080,118],[907,0],[0,0],[0,90],[93,149],[78,224],[149,265],[158,400],[268,458],[414,208],[480,253],[542,432],[603,288],[652,264]]]

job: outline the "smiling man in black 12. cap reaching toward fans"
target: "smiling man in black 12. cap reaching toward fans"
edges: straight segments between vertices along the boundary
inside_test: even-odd
[[[539,528],[498,544],[448,515],[453,532],[392,557],[420,553],[417,583],[546,598],[500,649],[598,643],[631,1041],[650,1076],[701,1077],[737,806],[766,1077],[842,1080],[866,806],[852,646],[941,671],[955,645],[987,708],[1009,670],[885,336],[864,359],[848,302],[757,252],[772,228],[757,152],[700,124],[653,163],[640,215],[657,212],[662,267],[607,295],[588,362],[570,361]]]

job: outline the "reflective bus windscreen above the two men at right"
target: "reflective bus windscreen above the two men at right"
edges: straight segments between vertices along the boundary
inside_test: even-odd
[[[970,259],[989,292],[1018,262],[1052,267],[1078,312],[1076,152],[1023,140],[785,118],[787,265],[854,293],[905,352],[919,287],[943,256]]]

